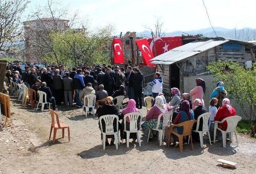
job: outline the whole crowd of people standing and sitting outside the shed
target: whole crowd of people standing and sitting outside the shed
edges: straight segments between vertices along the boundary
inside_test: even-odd
[[[25,72],[21,72],[19,63],[13,66],[8,66],[6,77],[16,83],[22,83],[28,88],[34,89],[36,92],[43,91],[47,94],[47,102],[52,103],[55,110],[56,105],[65,104],[66,106],[81,107],[86,104],[84,97],[88,94],[95,94],[96,100],[104,101],[102,106],[96,111],[98,117],[107,114],[118,115],[118,121],[121,139],[125,139],[124,121],[126,121],[126,130],[129,128],[129,120],[124,120],[124,115],[132,112],[139,112],[142,108],[142,82],[143,74],[139,68],[127,68],[119,66],[95,65],[82,66],[77,68],[68,68],[64,65],[48,66],[47,68],[36,68],[26,66]],[[148,111],[145,121],[142,123],[142,133],[148,137],[149,130],[156,128],[158,115],[167,111],[173,111],[172,123],[178,124],[184,121],[198,119],[198,117],[206,112],[211,112],[209,119],[209,131],[211,139],[214,133],[214,121],[222,121],[226,117],[236,115],[236,110],[231,106],[227,96],[227,91],[224,89],[224,82],[218,82],[216,88],[209,96],[210,107],[204,106],[204,93],[206,84],[202,78],[195,79],[195,87],[189,93],[180,93],[178,88],[171,88],[171,100],[166,102],[163,91],[163,80],[159,72],[155,73],[154,80],[150,82],[152,86],[152,97],[154,102],[152,108]],[[128,96],[129,102],[127,108],[121,112],[115,106],[116,96]],[[38,100],[38,98],[37,98]],[[85,102],[85,103],[83,103]],[[100,103],[99,103],[100,104]],[[116,121],[114,121],[116,124]],[[139,123],[138,123],[139,124]],[[218,125],[222,130],[226,130],[227,123],[224,122]],[[100,121],[99,121],[100,127]],[[167,126],[164,141],[168,141],[169,127]],[[138,125],[138,129],[140,126]],[[159,124],[159,129],[162,129],[162,118]],[[102,122],[102,129],[105,130],[105,123]],[[114,125],[115,129],[115,125]],[[196,129],[196,123],[193,127]],[[202,130],[202,120],[200,120],[199,131]],[[182,134],[182,127],[173,127],[173,132]],[[156,136],[157,131],[150,131],[149,138]],[[200,141],[198,133],[192,134],[194,141]],[[111,138],[110,143],[108,138]],[[136,139],[136,134],[130,135],[131,139]],[[220,131],[217,131],[216,140],[222,139]],[[173,145],[178,141],[176,135],[171,135],[171,143]],[[114,137],[107,136],[106,145],[114,145]]]

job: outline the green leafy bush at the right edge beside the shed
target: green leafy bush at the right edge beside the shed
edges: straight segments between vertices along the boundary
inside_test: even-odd
[[[207,66],[214,82],[222,80],[225,88],[242,108],[248,121],[256,120],[256,63],[251,68],[232,61],[214,62]]]

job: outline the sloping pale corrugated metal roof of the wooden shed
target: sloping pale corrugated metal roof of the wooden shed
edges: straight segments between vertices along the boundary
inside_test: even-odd
[[[151,59],[152,61],[151,63],[170,65],[172,63],[186,59],[187,57],[191,57],[193,55],[196,55],[198,53],[201,53],[203,51],[206,51],[218,45],[221,45],[222,43],[226,43],[228,41],[229,40],[213,40],[213,39],[210,39],[208,41],[194,41],[194,42],[182,45],[180,47],[171,49],[166,53],[163,53],[162,55],[156,56],[155,58]]]

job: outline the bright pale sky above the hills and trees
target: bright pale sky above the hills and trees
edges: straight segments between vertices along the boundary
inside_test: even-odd
[[[156,18],[164,31],[210,27],[202,0],[60,0],[70,12],[79,10],[93,27],[113,24],[115,33],[146,30]],[[256,0],[204,0],[214,27],[256,28]],[[26,14],[47,0],[31,0]]]

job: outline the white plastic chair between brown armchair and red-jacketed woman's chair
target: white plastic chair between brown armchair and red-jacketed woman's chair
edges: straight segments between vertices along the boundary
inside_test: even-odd
[[[203,134],[205,132],[208,133],[208,137],[209,137],[209,140],[210,140],[210,145],[212,145],[210,132],[209,132],[209,127],[208,127],[208,120],[209,120],[210,116],[211,116],[210,112],[206,112],[206,113],[203,113],[202,115],[199,115],[199,117],[197,118],[196,130],[193,131],[193,132],[199,133],[201,148],[204,147],[204,145],[203,145],[203,143],[204,143]],[[203,118],[203,127],[202,127],[202,131],[198,131],[201,118]],[[189,138],[188,138],[188,143],[189,143]]]

